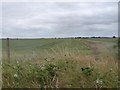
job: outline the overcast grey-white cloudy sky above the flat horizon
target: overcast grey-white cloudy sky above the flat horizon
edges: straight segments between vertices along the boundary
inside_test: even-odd
[[[4,2],[2,15],[2,37],[118,35],[117,2]]]

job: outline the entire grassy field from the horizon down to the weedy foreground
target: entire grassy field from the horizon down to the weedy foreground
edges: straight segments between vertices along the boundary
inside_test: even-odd
[[[2,41],[3,88],[117,88],[117,38]]]

